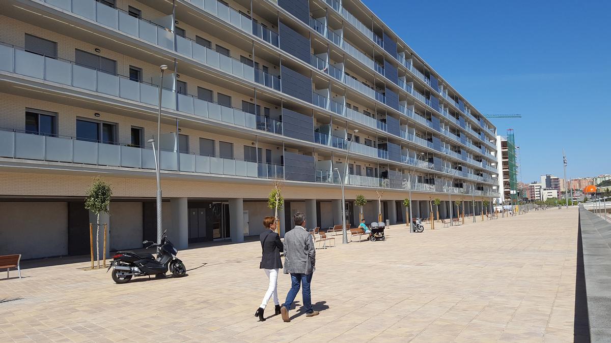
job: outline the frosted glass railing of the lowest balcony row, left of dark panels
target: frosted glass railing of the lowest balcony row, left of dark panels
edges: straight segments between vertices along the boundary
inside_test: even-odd
[[[27,132],[0,130],[0,157],[35,161],[65,162],[104,167],[155,170],[155,154],[150,148],[115,145],[75,137],[53,137]],[[284,178],[284,166],[257,164],[216,156],[161,151],[161,170],[183,171],[244,178]]]

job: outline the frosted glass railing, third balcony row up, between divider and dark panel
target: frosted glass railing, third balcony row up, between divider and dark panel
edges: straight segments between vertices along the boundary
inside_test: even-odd
[[[274,90],[280,90],[280,79],[277,76],[255,69],[240,60],[219,54],[219,52],[206,46],[197,44],[189,38],[176,37],[176,51],[198,62],[204,63],[215,69],[230,73],[247,81],[257,82]]]

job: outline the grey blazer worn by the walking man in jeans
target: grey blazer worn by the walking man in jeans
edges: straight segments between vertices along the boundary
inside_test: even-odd
[[[284,273],[312,274],[316,264],[316,250],[312,234],[295,226],[284,235]]]

